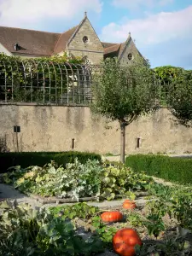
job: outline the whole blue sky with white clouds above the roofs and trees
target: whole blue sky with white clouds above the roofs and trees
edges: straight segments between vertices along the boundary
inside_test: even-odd
[[[192,0],[0,0],[0,26],[64,32],[84,11],[101,41],[131,32],[152,67],[192,69]]]

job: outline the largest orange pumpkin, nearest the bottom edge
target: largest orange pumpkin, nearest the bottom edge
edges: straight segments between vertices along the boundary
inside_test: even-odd
[[[121,256],[134,256],[136,245],[142,245],[136,230],[122,229],[113,236],[113,250]]]

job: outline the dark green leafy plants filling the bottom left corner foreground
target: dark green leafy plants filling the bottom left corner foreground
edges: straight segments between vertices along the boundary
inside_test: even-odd
[[[0,203],[0,255],[92,255],[102,242],[77,235],[73,224],[55,218],[45,209]]]

